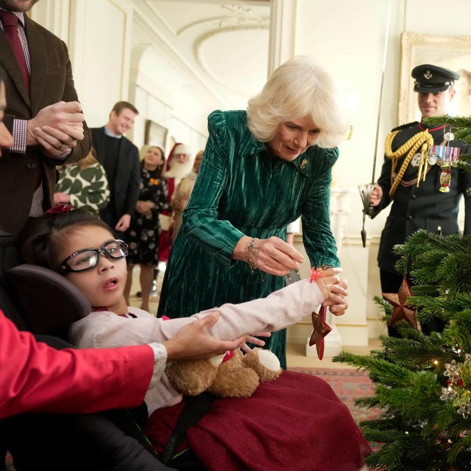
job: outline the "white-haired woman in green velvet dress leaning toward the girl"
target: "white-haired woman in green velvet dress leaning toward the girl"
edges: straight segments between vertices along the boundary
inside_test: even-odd
[[[183,317],[282,288],[283,276],[304,261],[286,242],[287,225],[299,216],[311,265],[339,265],[329,201],[342,123],[331,78],[304,56],[275,70],[247,111],[209,115],[157,315]],[[343,314],[343,302],[330,310]],[[286,331],[274,332],[266,347],[286,368]]]

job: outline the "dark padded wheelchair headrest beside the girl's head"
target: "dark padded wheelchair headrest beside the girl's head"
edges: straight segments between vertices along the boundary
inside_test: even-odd
[[[48,268],[23,264],[8,271],[16,305],[33,334],[65,338],[70,324],[92,308],[81,291]]]

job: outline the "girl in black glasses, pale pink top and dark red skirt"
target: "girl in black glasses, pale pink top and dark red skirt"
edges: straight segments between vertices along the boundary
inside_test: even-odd
[[[212,313],[218,320],[208,331],[216,339],[232,340],[248,332],[260,336],[299,321],[319,304],[344,304],[348,294],[338,277],[340,269],[331,268],[322,280],[302,280],[264,299],[163,320],[126,305],[127,246],[95,216],[80,210],[46,214],[31,219],[19,239],[25,262],[63,274],[90,302],[92,313],[69,330],[69,341],[78,348],[164,342],[184,325]],[[147,393],[145,432],[157,451],[171,436],[186,400],[165,375]],[[370,452],[330,386],[293,371],[260,383],[250,397],[214,398],[186,432],[185,446],[214,471],[354,471]]]

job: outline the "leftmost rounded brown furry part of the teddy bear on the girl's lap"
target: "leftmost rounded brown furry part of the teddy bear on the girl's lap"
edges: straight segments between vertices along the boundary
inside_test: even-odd
[[[182,394],[196,396],[206,391],[217,375],[218,367],[208,360],[176,360],[165,368],[171,385]]]

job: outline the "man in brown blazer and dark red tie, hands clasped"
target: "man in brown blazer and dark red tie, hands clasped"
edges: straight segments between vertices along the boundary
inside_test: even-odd
[[[0,63],[6,70],[4,123],[14,144],[0,157],[0,230],[17,234],[28,216],[52,206],[56,165],[76,162],[91,147],[66,45],[30,20],[37,0],[0,0]],[[10,37],[21,40],[29,79]],[[13,26],[15,28],[16,26]],[[29,93],[28,93],[29,89]]]

